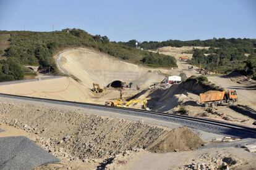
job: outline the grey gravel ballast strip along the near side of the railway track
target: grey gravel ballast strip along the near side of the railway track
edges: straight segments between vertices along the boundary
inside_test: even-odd
[[[86,104],[86,103],[79,103],[79,102],[65,102],[61,100],[51,100],[51,99],[36,99],[32,97],[18,97],[18,96],[6,95],[6,94],[0,94],[0,97],[5,97],[9,99],[21,99],[21,100],[27,100],[27,101],[40,102],[40,103],[53,103],[53,104],[66,105],[66,106],[72,106],[72,107],[78,107],[78,108],[79,107],[87,108],[89,110],[111,111],[112,113],[120,113],[123,115],[158,119],[161,121],[168,121],[172,123],[181,124],[183,126],[191,127],[193,129],[200,129],[206,132],[221,134],[224,136],[241,137],[241,138],[256,137],[255,132],[254,133],[245,132],[245,131],[242,131],[241,129],[224,127],[218,124],[203,123],[201,121],[197,121],[197,119],[190,120],[186,118],[175,118],[173,116],[155,115],[155,114],[150,114],[148,113],[148,111],[144,111],[144,110],[124,110],[122,108],[105,107],[103,105],[101,106],[101,105],[93,105],[93,104]]]

